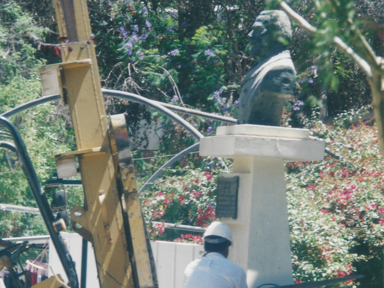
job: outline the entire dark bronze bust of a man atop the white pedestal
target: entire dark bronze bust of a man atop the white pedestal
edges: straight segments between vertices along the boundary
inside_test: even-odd
[[[295,93],[296,71],[286,46],[291,23],[281,10],[260,13],[248,34],[253,65],[240,86],[237,124],[280,126],[283,106]]]

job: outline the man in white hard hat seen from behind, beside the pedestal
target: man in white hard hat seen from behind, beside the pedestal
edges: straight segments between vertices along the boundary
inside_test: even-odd
[[[227,260],[232,245],[230,228],[212,222],[203,235],[206,255],[189,263],[184,271],[184,288],[247,288],[242,267]]]

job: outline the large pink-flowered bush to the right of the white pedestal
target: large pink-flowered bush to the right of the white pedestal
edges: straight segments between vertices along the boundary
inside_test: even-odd
[[[286,164],[296,283],[356,270],[382,275],[382,264],[372,266],[372,260],[382,257],[384,232],[384,172],[377,130],[364,122],[351,126],[364,111],[340,114],[333,127],[319,121],[311,129],[329,148],[324,161]],[[371,281],[381,287],[379,278]]]

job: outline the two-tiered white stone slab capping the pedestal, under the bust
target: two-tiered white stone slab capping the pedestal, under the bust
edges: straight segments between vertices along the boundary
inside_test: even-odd
[[[272,157],[283,159],[285,162],[324,158],[324,142],[308,139],[307,129],[244,124],[218,127],[217,132],[222,136],[200,139],[200,156]],[[242,134],[245,132],[252,135]]]

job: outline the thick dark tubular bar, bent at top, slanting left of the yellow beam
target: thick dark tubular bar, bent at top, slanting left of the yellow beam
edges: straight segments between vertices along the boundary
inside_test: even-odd
[[[32,161],[26,150],[24,141],[19,131],[17,131],[16,127],[7,118],[0,116],[0,123],[3,124],[3,126],[7,127],[8,131],[13,137],[15,147],[19,154],[19,159],[23,164],[22,166],[26,178],[28,180],[28,184],[32,191],[33,197],[36,200],[36,204],[41,212],[41,216],[44,219],[48,232],[50,233],[52,242],[55,245],[60,261],[63,264],[65,273],[68,276],[70,286],[72,288],[78,288],[79,281],[74,267],[74,263],[72,261],[70,253],[68,252],[68,249],[66,248],[63,238],[61,237],[60,233],[55,232],[53,228],[52,222],[55,221],[55,218],[52,215],[48,200],[45,197],[43,189],[41,188],[40,182],[36,175],[36,171],[33,168]]]

